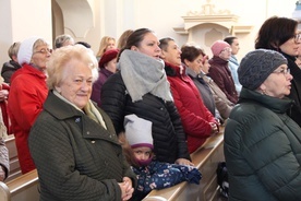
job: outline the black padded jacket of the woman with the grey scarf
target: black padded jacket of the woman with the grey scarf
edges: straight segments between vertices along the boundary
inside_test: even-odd
[[[154,152],[157,161],[174,163],[178,158],[190,159],[185,134],[173,102],[164,102],[148,93],[142,100],[133,103],[120,72],[107,80],[100,97],[101,108],[111,118],[117,133],[124,130],[124,116],[135,114],[153,122]]]

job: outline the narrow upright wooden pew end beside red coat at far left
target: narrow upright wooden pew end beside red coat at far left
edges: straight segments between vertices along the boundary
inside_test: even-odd
[[[21,176],[22,173],[21,173],[21,168],[20,168],[20,164],[19,164],[14,135],[10,134],[9,138],[5,139],[4,141],[5,141],[5,145],[9,150],[9,157],[10,157],[10,175],[5,180],[8,182],[8,181]]]

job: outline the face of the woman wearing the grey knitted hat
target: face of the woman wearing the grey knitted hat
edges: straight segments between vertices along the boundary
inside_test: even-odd
[[[281,64],[272,72],[260,88],[272,97],[282,98],[290,94],[292,75],[288,71],[287,64]]]

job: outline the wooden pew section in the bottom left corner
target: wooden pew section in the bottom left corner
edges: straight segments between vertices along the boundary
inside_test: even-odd
[[[37,170],[21,175],[8,182],[0,181],[1,201],[38,201],[39,185]]]

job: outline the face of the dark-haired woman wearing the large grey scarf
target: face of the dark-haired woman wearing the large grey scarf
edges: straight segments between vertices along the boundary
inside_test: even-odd
[[[159,59],[161,52],[161,49],[159,48],[159,40],[154,33],[145,34],[140,46],[132,46],[131,50],[147,55],[154,59]]]

